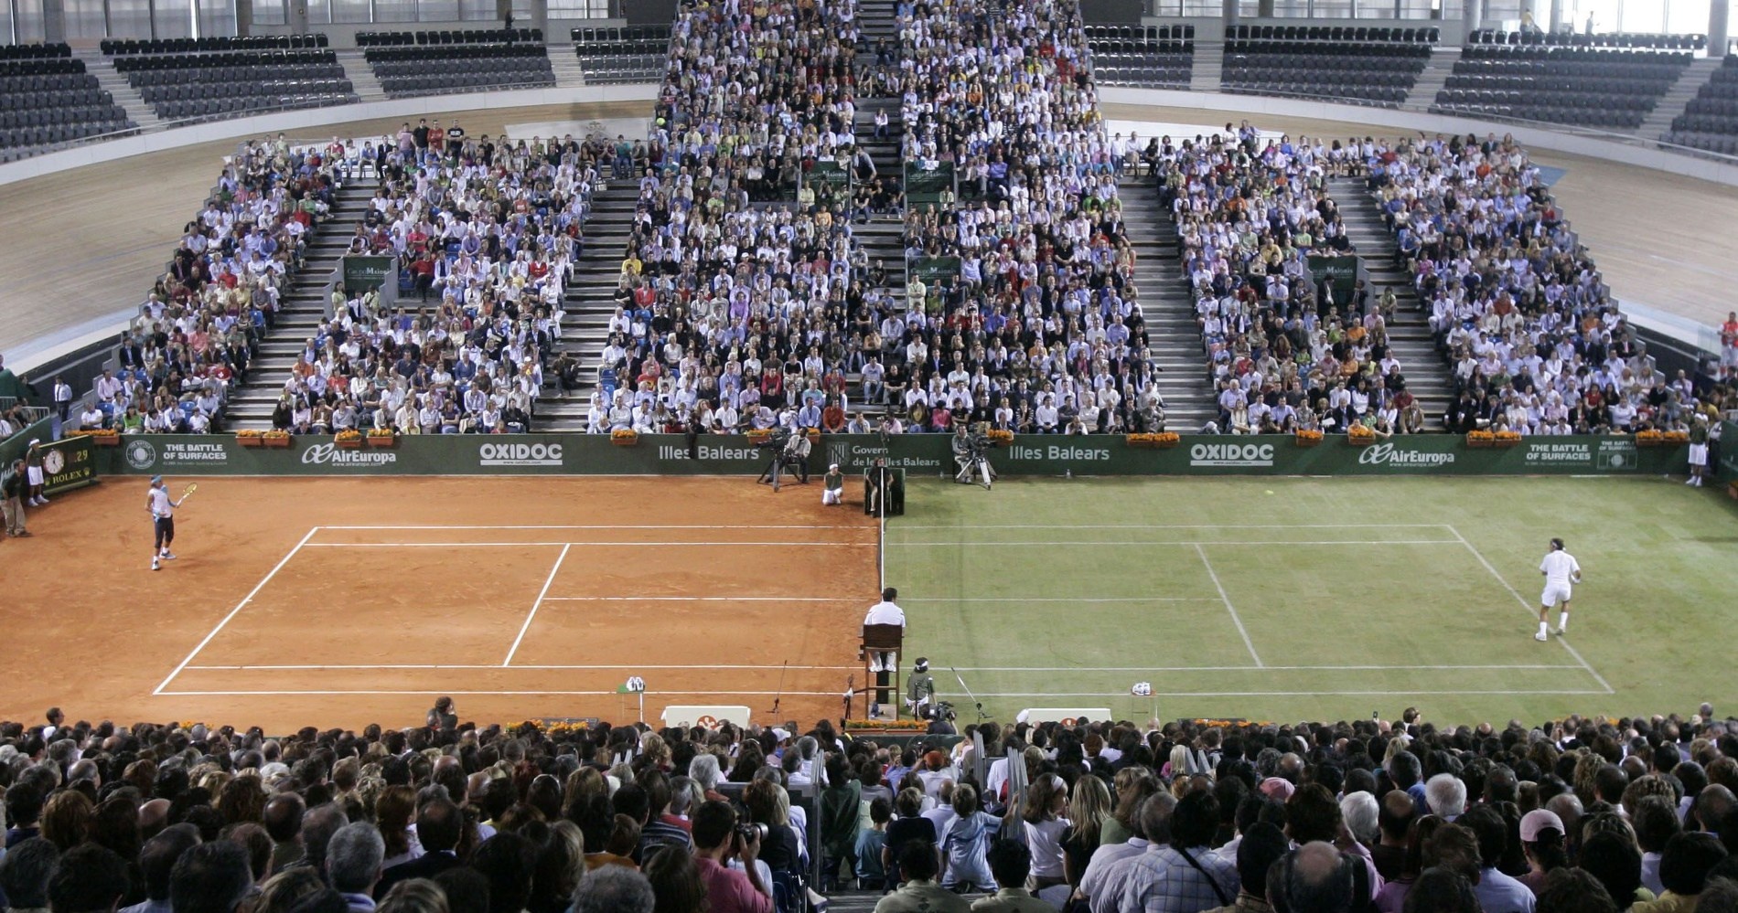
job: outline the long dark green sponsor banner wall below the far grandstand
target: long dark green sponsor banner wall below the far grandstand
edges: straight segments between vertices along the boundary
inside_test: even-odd
[[[1170,448],[1131,446],[1123,436],[1024,434],[991,451],[1005,476],[1531,476],[1681,474],[1684,444],[1642,448],[1630,436],[1528,437],[1474,448],[1460,436],[1418,434],[1352,446],[1328,437],[1298,446],[1291,436],[1182,436]],[[645,434],[634,446],[587,434],[412,434],[396,448],[348,450],[327,436],[287,448],[243,448],[231,436],[127,436],[99,448],[104,474],[132,476],[756,476],[772,451],[742,436]],[[876,460],[914,477],[952,476],[945,434],[827,434],[810,453],[812,472],[839,463],[860,474]],[[1722,463],[1728,462],[1722,456]]]

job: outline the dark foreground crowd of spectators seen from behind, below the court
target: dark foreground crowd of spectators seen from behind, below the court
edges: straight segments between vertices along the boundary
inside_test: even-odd
[[[0,908],[789,913],[855,887],[878,913],[1729,913],[1735,757],[1707,705],[905,745],[478,727],[447,698],[419,727],[283,738],[50,710],[0,724]]]

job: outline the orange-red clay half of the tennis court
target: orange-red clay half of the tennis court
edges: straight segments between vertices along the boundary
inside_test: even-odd
[[[653,726],[772,722],[780,677],[777,719],[810,722],[862,677],[876,526],[819,483],[212,477],[158,573],[144,491],[66,493],[0,543],[0,719],[398,727],[452,694],[468,720],[620,722],[640,675]]]

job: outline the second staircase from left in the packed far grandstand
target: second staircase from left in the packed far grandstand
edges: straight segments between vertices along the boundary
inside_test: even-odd
[[[579,391],[561,399],[561,389],[549,371],[532,415],[532,427],[537,430],[586,430],[586,411],[591,408],[591,392],[598,389],[603,347],[610,342],[615,288],[620,285],[622,257],[633,234],[638,201],[640,186],[626,177],[612,181],[608,187],[591,196],[586,248],[574,264],[574,279],[567,285],[561,342],[554,345],[549,359],[553,365],[561,352],[574,354],[580,368]]]

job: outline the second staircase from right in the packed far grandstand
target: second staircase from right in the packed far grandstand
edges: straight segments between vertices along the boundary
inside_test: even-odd
[[[1199,73],[1199,62],[1196,66]],[[1123,201],[1128,243],[1135,248],[1135,285],[1140,288],[1152,366],[1159,371],[1152,375],[1152,384],[1164,397],[1166,427],[1199,430],[1218,415],[1218,406],[1206,373],[1201,328],[1194,321],[1189,279],[1177,253],[1177,222],[1159,205],[1152,181],[1123,179],[1118,198]]]

